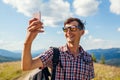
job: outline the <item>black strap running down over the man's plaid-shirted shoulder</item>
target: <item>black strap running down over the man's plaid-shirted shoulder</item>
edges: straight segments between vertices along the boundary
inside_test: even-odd
[[[59,63],[59,56],[60,56],[60,52],[59,49],[56,47],[53,47],[53,59],[52,59],[52,63],[53,63],[53,69],[52,69],[52,77],[51,80],[55,80],[55,74],[56,74],[56,66]]]

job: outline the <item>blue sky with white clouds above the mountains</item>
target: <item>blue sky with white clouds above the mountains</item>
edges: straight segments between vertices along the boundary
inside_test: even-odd
[[[85,50],[120,48],[120,0],[0,0],[0,49],[22,50],[28,22],[41,11],[44,33],[32,50],[66,44],[64,21],[77,17],[85,23],[80,45]]]

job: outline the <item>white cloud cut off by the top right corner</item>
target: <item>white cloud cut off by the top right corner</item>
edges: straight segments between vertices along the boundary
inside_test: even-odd
[[[110,0],[110,11],[117,15],[120,15],[120,0]]]

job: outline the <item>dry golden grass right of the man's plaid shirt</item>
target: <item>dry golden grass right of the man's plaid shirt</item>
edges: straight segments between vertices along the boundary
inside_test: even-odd
[[[120,80],[120,67],[94,64],[94,80]]]

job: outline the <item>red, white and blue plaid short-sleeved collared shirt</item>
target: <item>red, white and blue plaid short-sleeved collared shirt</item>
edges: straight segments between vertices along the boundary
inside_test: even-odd
[[[59,47],[59,51],[62,67],[59,63],[56,68],[55,80],[90,80],[94,78],[92,57],[81,46],[77,57],[70,53],[67,45]],[[44,67],[52,68],[52,57],[53,50],[51,48],[40,55]]]

